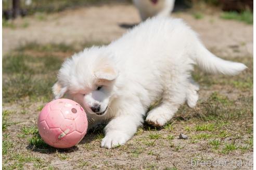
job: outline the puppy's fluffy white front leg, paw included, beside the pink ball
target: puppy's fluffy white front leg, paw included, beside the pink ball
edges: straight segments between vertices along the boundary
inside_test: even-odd
[[[117,116],[105,127],[105,137],[101,141],[101,147],[112,148],[123,145],[137,131],[137,127],[143,123],[145,109],[136,103],[119,102]],[[121,107],[121,108],[120,108]]]

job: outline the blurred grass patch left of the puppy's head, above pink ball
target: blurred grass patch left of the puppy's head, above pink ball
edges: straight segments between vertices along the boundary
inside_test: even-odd
[[[91,45],[85,43],[82,47]],[[51,100],[51,88],[63,60],[77,50],[80,49],[66,44],[30,43],[4,56],[3,102],[17,102],[24,98],[33,102]]]

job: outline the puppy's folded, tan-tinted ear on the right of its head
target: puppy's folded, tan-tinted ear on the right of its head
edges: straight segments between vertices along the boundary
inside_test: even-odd
[[[95,77],[104,80],[114,80],[118,77],[117,70],[111,65],[100,65],[94,72]]]

